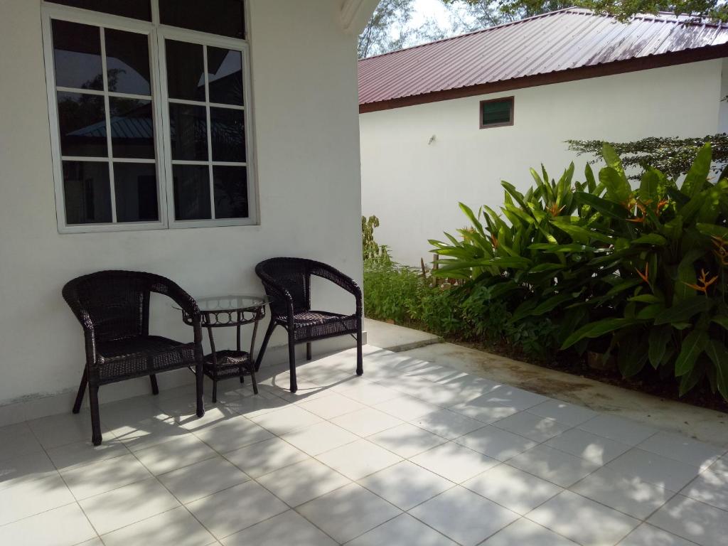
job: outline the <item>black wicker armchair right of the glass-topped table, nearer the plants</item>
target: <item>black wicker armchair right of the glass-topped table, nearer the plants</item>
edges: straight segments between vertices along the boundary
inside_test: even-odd
[[[256,371],[277,325],[288,331],[290,392],[296,392],[296,344],[306,344],[306,358],[311,360],[311,342],[334,336],[351,335],[357,340],[357,376],[364,373],[362,364],[362,291],[359,285],[331,266],[304,258],[271,258],[256,266],[256,274],[271,301],[271,320],[258,352]],[[355,314],[337,314],[311,309],[311,276],[323,277],[339,285],[356,299]]]

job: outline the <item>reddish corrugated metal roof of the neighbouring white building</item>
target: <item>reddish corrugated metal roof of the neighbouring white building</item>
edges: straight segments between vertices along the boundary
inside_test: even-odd
[[[627,23],[568,8],[359,61],[359,103],[728,43],[728,25],[673,14]]]

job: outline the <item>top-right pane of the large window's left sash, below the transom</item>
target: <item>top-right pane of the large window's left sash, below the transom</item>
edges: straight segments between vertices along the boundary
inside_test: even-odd
[[[107,28],[106,74],[108,90],[151,95],[149,41],[145,34]]]

